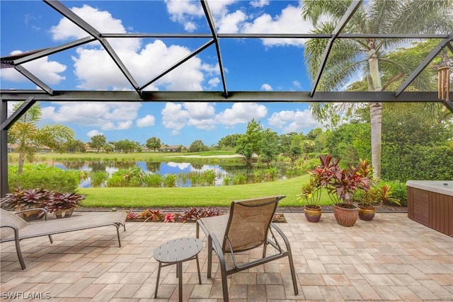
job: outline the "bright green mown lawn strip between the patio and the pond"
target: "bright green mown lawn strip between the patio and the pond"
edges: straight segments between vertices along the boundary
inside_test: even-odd
[[[164,208],[164,207],[229,207],[232,200],[263,197],[268,195],[286,195],[279,203],[280,207],[300,207],[297,201],[302,182],[309,180],[309,175],[288,180],[262,182],[251,185],[232,185],[217,187],[112,187],[83,188],[84,207],[104,208]],[[327,194],[321,197],[329,204]]]

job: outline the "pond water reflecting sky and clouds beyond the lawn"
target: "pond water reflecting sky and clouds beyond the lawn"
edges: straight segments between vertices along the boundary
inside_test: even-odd
[[[240,171],[246,170],[244,165],[236,165],[222,168],[221,165],[202,165],[194,163],[174,163],[174,162],[162,162],[162,163],[151,163],[144,161],[137,161],[134,163],[131,162],[105,162],[105,161],[95,161],[95,162],[53,162],[52,165],[63,170],[81,170],[87,171],[88,175],[91,172],[105,171],[108,173],[109,177],[113,173],[117,172],[120,169],[129,169],[134,168],[135,166],[141,168],[145,173],[156,173],[162,176],[168,174],[184,174],[197,172],[202,173],[205,170],[214,170],[216,175],[215,185],[223,185],[224,178],[228,175],[234,175],[240,173]],[[247,171],[247,170],[246,170]],[[247,172],[246,172],[247,173]],[[250,170],[248,170],[250,173]],[[248,174],[247,173],[247,174]],[[91,187],[91,180],[82,180],[79,184],[80,187]],[[178,181],[178,187],[190,187],[190,180],[185,180],[185,182]]]

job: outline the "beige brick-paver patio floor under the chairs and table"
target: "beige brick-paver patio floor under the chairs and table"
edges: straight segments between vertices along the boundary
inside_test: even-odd
[[[299,283],[294,296],[287,258],[229,277],[231,301],[453,301],[453,238],[406,213],[378,213],[346,228],[332,213],[309,223],[285,213]],[[122,230],[122,228],[120,228]],[[113,226],[21,241],[21,270],[13,243],[2,243],[1,301],[177,301],[176,266],[164,267],[154,299],[158,262],[152,252],[171,238],[195,237],[195,223],[127,222],[118,248]],[[183,263],[185,301],[222,301],[219,271],[207,279],[207,241]],[[255,257],[246,252],[244,259]],[[213,257],[213,268],[218,268]],[[31,299],[33,295],[40,295]],[[16,299],[14,301],[22,301]]]

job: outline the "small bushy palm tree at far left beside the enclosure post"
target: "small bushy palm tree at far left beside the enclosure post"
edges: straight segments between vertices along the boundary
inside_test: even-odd
[[[21,104],[16,104],[14,110],[17,110]],[[38,103],[35,103],[9,129],[8,142],[18,145],[18,174],[23,171],[25,157],[28,161],[33,161],[37,147],[47,146],[50,149],[58,149],[66,141],[74,139],[74,131],[62,124],[49,124],[38,128],[40,118],[41,108]]]

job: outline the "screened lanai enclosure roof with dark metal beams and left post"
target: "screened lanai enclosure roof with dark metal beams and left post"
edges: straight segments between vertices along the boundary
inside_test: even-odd
[[[452,67],[451,1],[114,2],[1,1],[1,197],[8,192],[8,129],[36,102],[425,102],[453,112],[451,76],[439,80],[440,91],[413,86],[433,65]],[[379,55],[420,41],[432,41],[427,55],[414,57],[411,70],[396,64],[394,85],[377,82],[385,76]],[[339,50],[354,44],[367,50],[354,56],[365,67],[356,64],[345,76]],[[259,54],[245,51],[257,45]],[[308,45],[319,50],[316,59]],[[297,84],[256,83],[287,74],[298,74]],[[329,86],[336,75],[346,81]],[[348,89],[354,81],[367,91]]]

